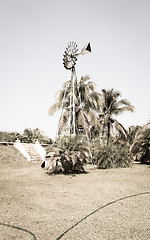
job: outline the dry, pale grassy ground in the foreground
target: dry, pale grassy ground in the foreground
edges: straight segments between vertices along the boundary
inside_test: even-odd
[[[2,240],[150,239],[150,166],[48,175],[1,148]]]

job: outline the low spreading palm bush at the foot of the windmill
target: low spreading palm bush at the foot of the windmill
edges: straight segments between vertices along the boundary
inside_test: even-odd
[[[47,148],[46,169],[51,173],[85,172],[83,164],[89,159],[87,142],[85,144],[79,136],[62,137]]]

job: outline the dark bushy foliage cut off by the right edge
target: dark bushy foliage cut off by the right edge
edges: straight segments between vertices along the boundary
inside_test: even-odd
[[[135,140],[131,146],[131,152],[135,159],[141,163],[150,163],[150,128],[149,124],[140,128],[135,136]]]

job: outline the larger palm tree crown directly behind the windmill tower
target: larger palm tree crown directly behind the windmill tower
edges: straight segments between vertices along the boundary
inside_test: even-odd
[[[89,81],[89,76],[81,77],[80,81],[74,82],[74,104],[75,104],[75,126],[76,134],[87,131],[96,121],[96,109],[101,109],[100,94],[95,90],[96,85]],[[56,94],[56,102],[50,107],[49,114],[54,114],[57,110],[62,109],[58,126],[58,135],[64,132],[67,127],[70,133],[72,129],[72,112],[73,112],[72,82],[67,81],[63,89]]]

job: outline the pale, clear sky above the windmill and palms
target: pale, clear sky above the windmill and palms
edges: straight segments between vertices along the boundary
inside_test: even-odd
[[[60,112],[48,109],[70,79],[70,41],[79,50],[91,43],[78,79],[89,75],[99,92],[114,88],[134,105],[117,117],[125,128],[150,120],[149,0],[0,0],[0,131],[56,136]]]

